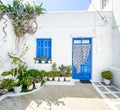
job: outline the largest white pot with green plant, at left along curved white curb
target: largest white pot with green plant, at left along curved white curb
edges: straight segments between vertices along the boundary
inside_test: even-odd
[[[15,93],[20,93],[22,91],[22,84],[23,84],[23,82],[19,79],[14,82],[13,89],[14,89]]]

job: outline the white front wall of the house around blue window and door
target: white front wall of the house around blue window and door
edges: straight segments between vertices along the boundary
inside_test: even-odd
[[[102,14],[110,18],[112,17],[111,12],[103,12]],[[101,71],[112,65],[112,28],[110,25],[105,25],[97,13],[49,12],[38,17],[37,22],[39,27],[37,32],[34,35],[26,34],[26,41],[30,50],[23,59],[27,62],[29,69],[51,69],[51,64],[34,63],[33,58],[36,56],[36,38],[52,38],[52,60],[59,66],[61,64],[72,64],[72,38],[92,37],[92,80],[94,81],[100,81]],[[10,38],[14,36],[14,33],[11,33],[11,28],[9,28],[7,32],[10,32],[10,34],[8,34]],[[3,36],[3,34],[1,36]],[[12,41],[9,41],[7,45],[13,45],[10,42]],[[9,48],[14,50],[14,46]],[[8,51],[9,49],[6,50],[6,53]],[[6,53],[4,54],[6,55]],[[4,59],[2,59],[2,62],[4,62]],[[4,67],[4,70],[5,69],[7,68]],[[0,70],[3,70],[3,68],[0,68]]]

